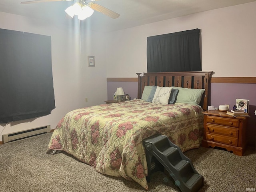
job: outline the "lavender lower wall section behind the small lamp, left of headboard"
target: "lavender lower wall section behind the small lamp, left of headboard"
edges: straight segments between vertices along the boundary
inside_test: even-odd
[[[122,87],[131,100],[138,97],[138,82],[108,82],[108,100],[113,99],[116,88]]]

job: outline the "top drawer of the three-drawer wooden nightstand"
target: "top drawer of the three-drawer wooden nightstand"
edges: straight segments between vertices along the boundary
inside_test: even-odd
[[[222,118],[222,117],[207,115],[206,121],[208,123],[213,123],[213,124],[239,127],[239,119],[235,119],[235,118]]]

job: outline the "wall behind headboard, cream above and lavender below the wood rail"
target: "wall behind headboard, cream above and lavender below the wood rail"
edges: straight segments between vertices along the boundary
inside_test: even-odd
[[[256,2],[210,10],[108,34],[107,77],[134,78],[147,72],[146,38],[199,28],[202,70],[212,77],[255,77],[256,71]],[[114,58],[114,59],[113,59]],[[124,82],[108,82],[108,99]],[[133,84],[133,89],[137,89]],[[210,104],[234,105],[235,98],[250,99],[248,142],[255,146],[256,84],[212,84]],[[129,92],[128,92],[129,94]]]

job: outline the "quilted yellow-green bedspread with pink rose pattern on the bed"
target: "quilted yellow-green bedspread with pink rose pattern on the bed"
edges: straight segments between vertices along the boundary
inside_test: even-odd
[[[148,189],[142,140],[163,134],[184,152],[202,139],[202,108],[190,104],[153,104],[134,99],[68,112],[49,142],[90,164],[97,172],[134,180]]]

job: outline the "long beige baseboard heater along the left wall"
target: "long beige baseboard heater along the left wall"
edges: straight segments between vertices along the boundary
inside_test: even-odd
[[[38,128],[28,129],[25,131],[5,134],[5,135],[2,135],[2,140],[3,140],[3,144],[5,144],[8,142],[17,141],[17,140],[25,139],[28,137],[49,133],[50,131],[51,131],[51,126],[47,125],[44,127],[38,127]]]

